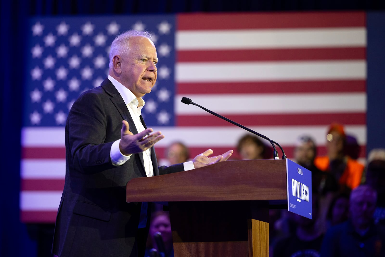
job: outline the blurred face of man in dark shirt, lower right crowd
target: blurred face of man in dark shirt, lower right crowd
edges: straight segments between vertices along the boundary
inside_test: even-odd
[[[377,194],[366,185],[355,188],[350,195],[350,218],[355,228],[365,229],[370,225],[376,208]]]

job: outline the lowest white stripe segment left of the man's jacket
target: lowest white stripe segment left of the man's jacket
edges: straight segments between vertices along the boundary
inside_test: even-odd
[[[20,209],[23,211],[57,211],[62,191],[21,191]]]

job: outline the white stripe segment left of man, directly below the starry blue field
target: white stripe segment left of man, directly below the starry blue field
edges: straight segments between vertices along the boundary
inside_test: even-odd
[[[21,133],[23,146],[65,146],[64,127],[24,127]]]

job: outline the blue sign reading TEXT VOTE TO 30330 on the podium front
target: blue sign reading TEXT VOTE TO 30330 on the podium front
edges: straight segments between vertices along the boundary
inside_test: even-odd
[[[311,171],[286,159],[288,211],[312,218]]]

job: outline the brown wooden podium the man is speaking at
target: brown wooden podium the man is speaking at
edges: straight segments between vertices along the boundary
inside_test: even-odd
[[[287,206],[286,160],[224,161],[127,183],[127,202],[169,202],[175,257],[268,257],[269,206]]]

